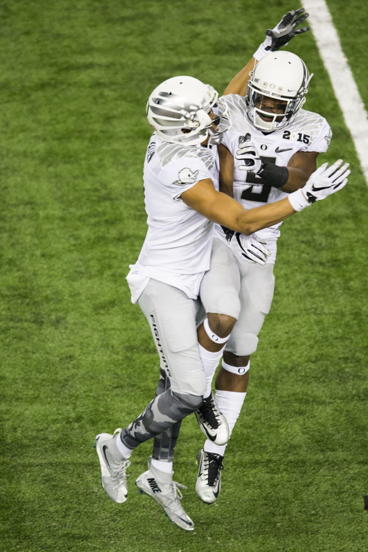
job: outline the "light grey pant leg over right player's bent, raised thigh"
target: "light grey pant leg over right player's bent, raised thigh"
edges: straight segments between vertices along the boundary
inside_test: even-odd
[[[225,314],[238,319],[240,272],[229,247],[214,238],[211,251],[211,267],[202,278],[199,295],[206,312]]]

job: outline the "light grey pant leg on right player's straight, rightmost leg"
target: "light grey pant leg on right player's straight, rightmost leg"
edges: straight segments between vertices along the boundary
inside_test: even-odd
[[[247,357],[257,349],[258,333],[274,295],[273,269],[274,264],[255,264],[253,272],[241,280],[241,313],[226,343],[226,351],[238,357]]]

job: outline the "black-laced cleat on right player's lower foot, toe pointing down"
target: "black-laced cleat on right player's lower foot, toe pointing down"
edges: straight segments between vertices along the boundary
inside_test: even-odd
[[[204,449],[197,454],[198,477],[195,484],[195,492],[202,502],[211,504],[215,502],[221,491],[221,471],[223,456]]]

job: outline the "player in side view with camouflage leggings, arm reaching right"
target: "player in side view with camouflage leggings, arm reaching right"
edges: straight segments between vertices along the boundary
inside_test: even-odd
[[[161,380],[156,396],[133,422],[96,437],[103,488],[120,503],[127,498],[132,450],[153,439],[148,470],[136,485],[185,530],[194,524],[180,502],[180,485],[173,481],[173,453],[180,422],[198,410],[206,391],[196,313],[201,280],[210,268],[214,222],[241,232],[244,254],[264,263],[269,252],[251,235],[344,187],[349,174],[339,162],[340,168],[335,164],[317,171],[288,199],[247,211],[218,191],[217,144],[229,128],[227,110],[214,88],[192,77],[170,78],[148,99],[154,130],[143,169],[148,231],[127,281],[132,302],[140,305],[150,325]],[[227,424],[216,415],[222,426],[216,437],[225,443]]]

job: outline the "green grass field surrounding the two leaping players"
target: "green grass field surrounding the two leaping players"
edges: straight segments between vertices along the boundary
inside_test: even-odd
[[[365,4],[329,0],[367,105]],[[3,0],[1,529],[4,552],[360,552],[368,549],[367,190],[312,33],[306,107],[334,137],[348,187],[287,220],[274,304],[252,359],[216,504],[196,497],[202,438],[186,419],[175,479],[194,533],[135,491],[100,486],[96,433],[153,396],[158,357],[125,282],[146,233],[145,104],[189,74],[220,92],[286,0]],[[321,161],[322,162],[322,161]]]

